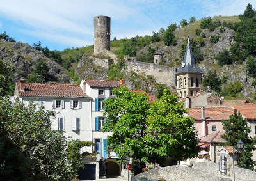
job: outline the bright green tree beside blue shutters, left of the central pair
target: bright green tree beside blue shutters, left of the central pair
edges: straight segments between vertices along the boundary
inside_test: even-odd
[[[116,97],[104,102],[106,123],[102,130],[112,132],[108,136],[108,148],[118,153],[121,162],[131,157],[141,166],[141,158],[145,157],[141,148],[144,146],[143,136],[150,108],[148,97],[124,87],[114,89],[113,93]]]

